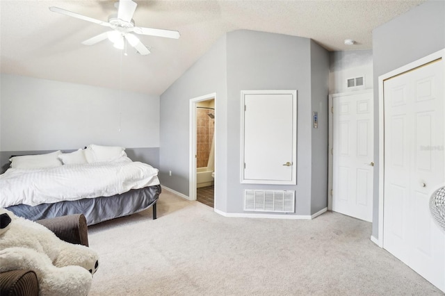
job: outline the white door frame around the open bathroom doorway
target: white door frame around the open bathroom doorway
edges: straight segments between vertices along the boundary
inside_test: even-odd
[[[189,200],[196,200],[196,106],[197,103],[200,101],[208,101],[209,99],[215,100],[215,106],[216,106],[216,92],[213,92],[211,94],[204,94],[200,97],[195,97],[193,99],[190,99],[189,102],[189,114],[190,114],[190,120],[189,120],[189,136],[188,136],[188,142],[189,142],[189,156],[188,156],[188,199]],[[213,138],[215,139],[215,144],[213,145],[213,149],[215,149],[215,167],[214,171],[216,172],[216,159],[218,159],[217,156],[217,149],[216,149],[216,122],[218,116],[216,116],[216,108],[214,110],[215,115],[215,131],[213,132]],[[216,176],[216,174],[215,174]],[[216,177],[215,177],[216,180]]]

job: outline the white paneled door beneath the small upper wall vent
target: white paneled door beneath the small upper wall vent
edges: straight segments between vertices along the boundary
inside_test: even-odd
[[[332,96],[332,211],[372,222],[373,92]]]

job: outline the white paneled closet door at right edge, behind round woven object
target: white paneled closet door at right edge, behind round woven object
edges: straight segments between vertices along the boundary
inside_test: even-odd
[[[445,232],[429,210],[444,175],[444,65],[435,61],[383,83],[383,247],[445,291]]]

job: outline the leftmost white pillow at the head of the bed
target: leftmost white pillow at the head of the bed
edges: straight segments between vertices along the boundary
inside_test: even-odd
[[[60,150],[48,154],[14,156],[9,159],[13,169],[38,169],[43,167],[58,167],[62,162],[58,156]]]

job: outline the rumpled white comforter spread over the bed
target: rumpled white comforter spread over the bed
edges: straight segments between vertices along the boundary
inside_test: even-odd
[[[0,175],[0,207],[108,197],[159,185],[158,170],[130,158],[44,169],[10,168]]]

